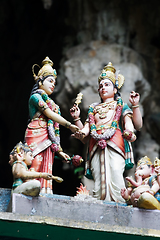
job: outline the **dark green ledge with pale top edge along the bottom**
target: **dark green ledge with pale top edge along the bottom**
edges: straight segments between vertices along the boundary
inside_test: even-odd
[[[160,230],[131,228],[87,221],[0,213],[0,236],[23,239],[97,240],[160,237]],[[8,238],[7,238],[8,239]],[[12,238],[11,238],[12,239]]]

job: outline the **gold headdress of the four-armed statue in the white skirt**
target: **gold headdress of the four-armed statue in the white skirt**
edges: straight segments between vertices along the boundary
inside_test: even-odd
[[[109,62],[108,65],[106,65],[99,78],[98,82],[100,83],[101,80],[108,78],[112,83],[120,89],[124,83],[124,76],[122,74],[119,74],[119,72],[116,73],[116,69],[113,67],[112,63]]]

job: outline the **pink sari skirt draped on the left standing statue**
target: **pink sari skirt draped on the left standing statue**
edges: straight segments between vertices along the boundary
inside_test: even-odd
[[[47,118],[41,115],[32,119],[28,124],[25,133],[26,143],[32,150],[36,149],[38,144],[48,139]],[[36,172],[46,172],[52,174],[52,166],[54,162],[54,153],[51,147],[47,147],[44,151],[35,156],[30,170]],[[41,182],[41,193],[52,194],[52,180],[38,179]]]

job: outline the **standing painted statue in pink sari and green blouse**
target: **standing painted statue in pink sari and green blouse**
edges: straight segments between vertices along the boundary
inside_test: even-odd
[[[25,141],[33,150],[34,160],[31,169],[36,172],[52,174],[54,155],[57,153],[68,161],[70,156],[63,152],[60,145],[59,124],[69,128],[73,133],[79,128],[65,120],[60,108],[49,97],[55,88],[57,73],[52,68],[53,62],[46,57],[38,74],[32,71],[35,85],[29,98],[29,124],[25,133]],[[41,194],[52,194],[52,180],[41,178]]]

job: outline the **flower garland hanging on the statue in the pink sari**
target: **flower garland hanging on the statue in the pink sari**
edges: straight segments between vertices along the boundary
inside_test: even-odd
[[[54,103],[54,101],[48,97],[48,95],[46,94],[46,92],[42,89],[38,89],[36,91],[36,93],[40,94],[41,97],[43,98],[43,100],[47,103],[48,107],[58,113],[60,115],[60,110],[57,107],[57,105]],[[48,124],[47,124],[47,128],[48,128],[48,135],[49,135],[49,139],[59,145],[60,147],[60,133],[59,133],[59,123],[57,122],[53,122],[52,119],[48,119]],[[59,148],[55,148],[55,151],[58,151]]]

